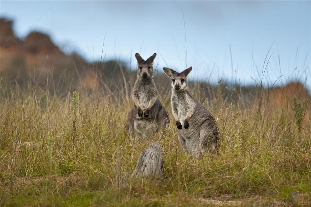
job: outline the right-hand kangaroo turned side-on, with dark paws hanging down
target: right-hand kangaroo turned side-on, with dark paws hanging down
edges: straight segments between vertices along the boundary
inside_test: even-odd
[[[183,151],[193,157],[215,152],[220,142],[215,118],[202,104],[193,99],[188,91],[187,76],[192,67],[181,73],[167,67],[163,70],[171,78],[172,112]]]

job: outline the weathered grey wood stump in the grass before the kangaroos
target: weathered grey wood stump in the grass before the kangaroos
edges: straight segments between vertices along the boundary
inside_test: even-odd
[[[162,150],[158,142],[151,143],[149,148],[140,154],[136,168],[131,177],[149,177],[160,175],[164,170]]]

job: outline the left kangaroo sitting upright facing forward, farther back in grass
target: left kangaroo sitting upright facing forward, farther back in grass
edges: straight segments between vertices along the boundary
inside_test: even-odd
[[[147,60],[138,53],[135,54],[135,58],[138,69],[132,91],[134,108],[128,113],[126,124],[131,140],[135,133],[138,137],[151,136],[169,124],[169,115],[158,99],[159,94],[153,81],[152,65],[156,53]]]

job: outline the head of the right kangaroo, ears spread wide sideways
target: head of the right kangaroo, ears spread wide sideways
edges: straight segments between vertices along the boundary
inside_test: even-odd
[[[186,70],[182,71],[181,73],[176,72],[172,69],[167,67],[163,68],[165,74],[171,78],[171,85],[172,89],[176,91],[183,91],[188,89],[188,81],[187,77],[188,74],[191,72],[192,67],[187,68]]]

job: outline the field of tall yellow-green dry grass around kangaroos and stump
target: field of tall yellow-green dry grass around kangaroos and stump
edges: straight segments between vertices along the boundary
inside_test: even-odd
[[[160,90],[160,89],[159,89]],[[311,117],[299,100],[281,107],[200,96],[216,117],[221,145],[202,159],[183,154],[170,94],[171,125],[149,140],[129,140],[125,95],[104,89],[59,96],[1,84],[1,206],[296,205],[311,195]],[[160,93],[161,94],[161,93]],[[75,101],[73,101],[75,100]],[[130,104],[129,104],[130,103]],[[260,104],[258,104],[260,103]],[[142,150],[159,142],[157,178],[130,179]]]

